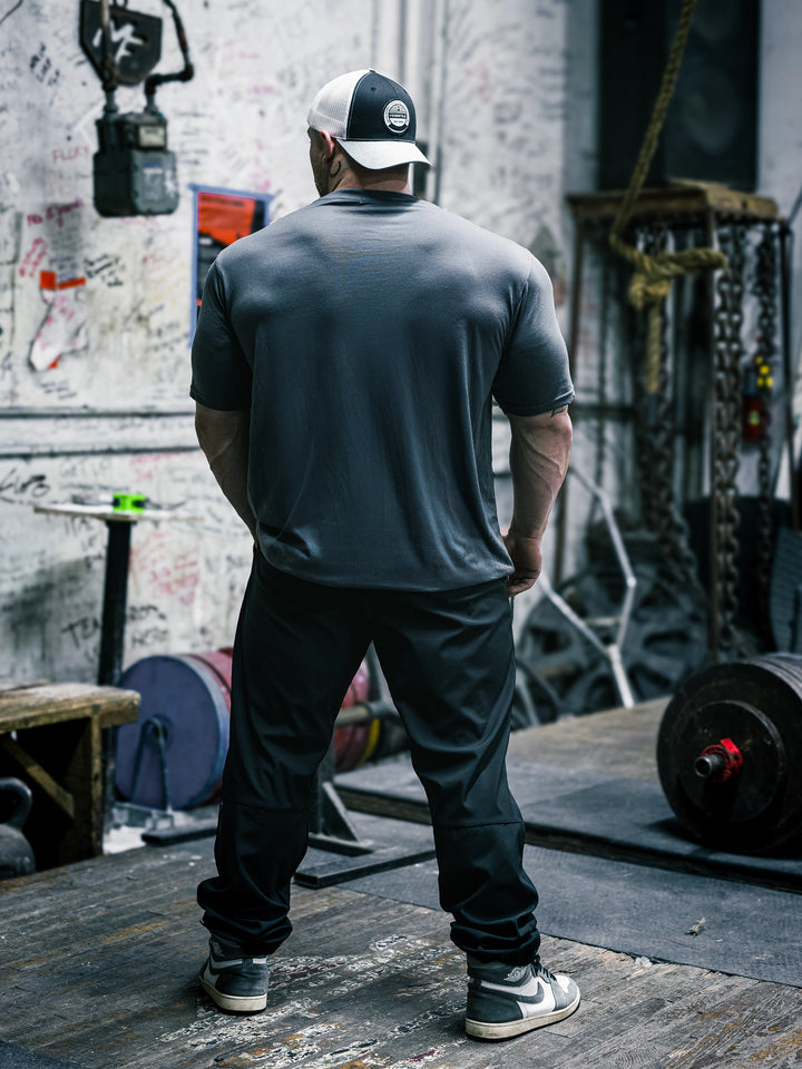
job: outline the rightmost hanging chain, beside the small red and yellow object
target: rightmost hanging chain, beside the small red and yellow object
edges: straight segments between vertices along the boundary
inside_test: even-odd
[[[757,246],[754,293],[757,297],[757,339],[754,355],[754,374],[761,405],[760,461],[757,468],[757,590],[761,620],[769,627],[769,591],[773,557],[774,523],[772,518],[771,470],[771,392],[773,386],[773,360],[776,353],[775,332],[777,324],[776,242],[774,226],[767,223]]]

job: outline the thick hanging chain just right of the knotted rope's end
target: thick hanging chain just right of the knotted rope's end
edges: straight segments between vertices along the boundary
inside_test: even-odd
[[[739,608],[737,470],[741,437],[741,363],[743,356],[743,277],[747,226],[724,222],[718,241],[728,269],[716,283],[714,312],[713,522],[718,592],[718,649],[736,651]]]

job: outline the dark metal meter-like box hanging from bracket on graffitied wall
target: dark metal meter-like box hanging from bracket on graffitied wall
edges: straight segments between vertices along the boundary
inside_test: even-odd
[[[97,120],[94,157],[95,207],[100,215],[168,215],[178,207],[175,153],[167,148],[167,119],[156,107],[156,88],[194,75],[180,17],[173,13],[184,68],[151,75],[162,56],[162,20],[109,0],[81,0],[80,39],[102,81],[106,106]],[[145,110],[120,112],[115,91],[145,80]]]

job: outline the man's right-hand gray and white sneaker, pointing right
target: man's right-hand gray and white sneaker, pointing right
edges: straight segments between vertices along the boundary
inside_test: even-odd
[[[579,1006],[570,977],[550,973],[539,962],[508,965],[468,957],[466,1033],[508,1039],[569,1017]]]

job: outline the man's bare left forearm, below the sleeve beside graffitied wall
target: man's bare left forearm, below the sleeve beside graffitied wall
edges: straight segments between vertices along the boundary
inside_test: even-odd
[[[247,497],[251,413],[195,409],[195,432],[212,474],[243,523],[256,538],[256,518]]]

